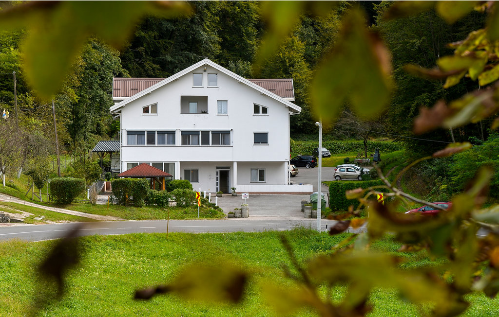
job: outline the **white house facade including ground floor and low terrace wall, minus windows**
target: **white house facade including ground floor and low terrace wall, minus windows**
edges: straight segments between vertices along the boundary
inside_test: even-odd
[[[193,87],[193,73],[203,74],[203,87]],[[209,73],[218,74],[218,87],[207,87]],[[207,113],[181,113],[186,111],[189,96],[195,96],[192,102],[207,101]],[[217,114],[217,101],[227,101],[227,114]],[[157,114],[142,113],[143,106],[155,103]],[[253,104],[267,107],[268,114],[253,114]],[[213,193],[217,190],[216,167],[230,166],[229,188],[237,187],[238,192],[311,192],[308,187],[287,185],[288,108],[208,65],[122,107],[120,125],[122,172],[128,162],[172,162],[176,179],[184,178],[185,169],[197,169],[199,183],[193,183],[193,188]],[[133,130],[175,131],[175,145],[128,145],[127,131]],[[231,142],[182,145],[181,131],[230,131]],[[268,132],[268,144],[253,144],[253,132]],[[265,169],[264,183],[250,182],[251,168]]]

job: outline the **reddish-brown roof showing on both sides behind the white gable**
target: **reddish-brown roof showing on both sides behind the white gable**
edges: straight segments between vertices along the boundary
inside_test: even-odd
[[[132,97],[164,79],[165,78],[113,78],[113,98]],[[290,78],[249,79],[249,81],[281,98],[294,100],[293,80]]]

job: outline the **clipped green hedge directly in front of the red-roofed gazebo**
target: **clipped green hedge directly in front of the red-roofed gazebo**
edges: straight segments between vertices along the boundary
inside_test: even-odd
[[[149,182],[137,178],[120,178],[111,182],[113,195],[120,205],[128,205],[130,199],[135,207],[142,207],[149,190]]]

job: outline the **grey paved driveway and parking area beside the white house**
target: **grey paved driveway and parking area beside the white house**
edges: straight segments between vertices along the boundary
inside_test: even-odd
[[[317,191],[317,174],[319,169],[316,168],[299,168],[298,175],[291,177],[291,182],[312,184],[314,192]],[[333,180],[334,168],[322,168],[322,181]],[[326,195],[326,206],[329,206],[327,201],[328,187],[321,186],[321,191]],[[250,195],[247,203],[250,206],[250,218],[303,218],[303,212],[300,211],[301,200],[308,200],[310,195]],[[212,202],[214,198],[212,197]],[[234,211],[235,208],[241,208],[241,204],[245,201],[241,195],[236,197],[230,194],[225,194],[219,198],[219,206],[228,213]]]

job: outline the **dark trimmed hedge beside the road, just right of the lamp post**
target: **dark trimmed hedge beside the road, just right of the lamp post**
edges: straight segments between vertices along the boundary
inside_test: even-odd
[[[376,181],[335,181],[329,183],[329,208],[332,211],[346,211],[350,205],[356,209],[359,201],[356,199],[347,200],[345,192],[356,188],[368,188],[371,186],[384,185],[382,180]],[[387,190],[380,190],[385,192]]]

